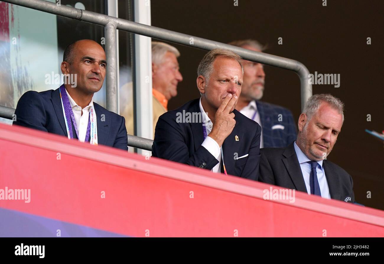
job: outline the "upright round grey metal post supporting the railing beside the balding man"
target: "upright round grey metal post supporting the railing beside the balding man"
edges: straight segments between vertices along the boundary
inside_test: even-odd
[[[116,23],[109,22],[105,26],[105,54],[107,57],[106,72],[106,106],[109,111],[118,113],[118,85],[117,85],[117,49]]]

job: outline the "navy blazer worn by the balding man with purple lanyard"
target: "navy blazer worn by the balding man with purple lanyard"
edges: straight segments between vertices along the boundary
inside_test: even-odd
[[[124,117],[106,110],[95,102],[93,106],[97,118],[98,144],[128,150]],[[40,93],[27,91],[20,97],[15,115],[16,121],[13,121],[13,125],[68,137],[59,88]],[[102,115],[104,115],[103,121],[101,121]],[[74,131],[73,124],[72,129]],[[73,137],[77,139],[76,132],[73,133]]]

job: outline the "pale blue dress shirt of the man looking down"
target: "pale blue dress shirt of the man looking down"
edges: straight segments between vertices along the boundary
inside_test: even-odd
[[[308,159],[308,157],[303,153],[303,151],[301,151],[299,146],[296,144],[296,141],[293,144],[293,146],[295,146],[296,156],[300,163],[300,168],[301,168],[301,172],[303,173],[307,192],[308,194],[311,194],[311,187],[310,187],[311,164],[308,163],[308,161],[311,161],[311,160]],[[327,178],[325,176],[325,171],[323,168],[323,160],[317,162],[316,174],[317,174],[317,179],[319,181],[321,197],[331,199],[331,194],[329,194]]]

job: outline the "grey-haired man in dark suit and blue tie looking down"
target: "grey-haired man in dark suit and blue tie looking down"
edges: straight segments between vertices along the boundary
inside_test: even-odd
[[[300,115],[297,140],[261,150],[259,181],[353,203],[351,176],[326,160],[343,125],[343,108],[332,95],[313,95]]]

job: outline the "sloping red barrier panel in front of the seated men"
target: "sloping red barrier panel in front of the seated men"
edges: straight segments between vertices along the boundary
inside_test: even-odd
[[[0,124],[0,151],[0,189],[30,189],[3,209],[137,237],[384,236],[381,210],[28,128]]]

